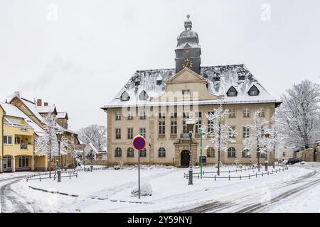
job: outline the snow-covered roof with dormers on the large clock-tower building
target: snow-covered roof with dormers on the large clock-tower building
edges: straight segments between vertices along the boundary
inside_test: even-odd
[[[161,103],[150,102],[150,97],[159,97],[166,91],[166,82],[175,75],[175,69],[165,70],[143,70],[137,71],[129,79],[127,84],[122,87],[120,92],[112,99],[112,101],[103,106],[105,108],[116,108],[123,106],[153,106],[161,105]],[[279,102],[262,87],[260,82],[255,79],[245,65],[223,65],[212,67],[201,67],[200,76],[207,80],[208,91],[215,95],[224,95],[225,104],[238,104],[238,103],[274,103]],[[156,79],[162,79],[161,84],[156,84]],[[136,80],[140,81],[136,85]],[[255,85],[259,89],[259,95],[250,96],[248,94],[250,88]],[[227,96],[228,89],[234,87],[238,94],[237,96]],[[143,91],[148,94],[148,100],[140,100],[139,94]],[[128,101],[122,101],[121,96],[124,92],[129,95]],[[217,104],[218,100],[203,100],[198,101],[197,104]],[[166,105],[171,105],[169,102]],[[173,105],[179,104],[173,102]]]

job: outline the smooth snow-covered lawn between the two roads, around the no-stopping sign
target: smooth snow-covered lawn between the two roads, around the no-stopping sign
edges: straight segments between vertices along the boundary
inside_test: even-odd
[[[270,170],[272,168],[270,167]],[[212,166],[203,168],[205,172],[215,171]],[[235,167],[222,167],[221,170],[235,170]],[[194,169],[194,172],[199,172]],[[250,170],[254,175],[257,170]],[[251,177],[251,179],[193,179],[193,185],[188,185],[188,179],[183,174],[188,169],[175,167],[145,167],[141,170],[142,182],[148,182],[152,187],[152,196],[132,197],[132,188],[137,186],[138,171],[135,168],[124,170],[97,170],[80,172],[78,178],[63,179],[61,183],[46,179],[23,180],[12,188],[28,199],[34,206],[41,206],[43,211],[68,212],[154,212],[181,211],[191,209],[210,201],[232,198],[253,190],[262,199],[265,188],[282,184],[283,182],[306,175],[312,170],[301,167],[289,167],[289,170],[274,175]],[[247,175],[247,172],[242,172]],[[223,175],[228,175],[225,173]],[[239,176],[239,173],[234,174]],[[51,192],[63,192],[78,196],[50,194],[31,189],[31,187],[46,189]]]

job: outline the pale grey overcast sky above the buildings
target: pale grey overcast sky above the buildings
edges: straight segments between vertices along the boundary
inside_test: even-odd
[[[187,13],[203,66],[243,63],[276,97],[320,82],[318,0],[0,2],[0,101],[42,98],[68,111],[73,130],[105,125],[100,107],[135,70],[175,67]]]

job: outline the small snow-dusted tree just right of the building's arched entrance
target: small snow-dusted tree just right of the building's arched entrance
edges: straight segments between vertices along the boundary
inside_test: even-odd
[[[210,137],[210,143],[218,149],[218,175],[220,175],[220,152],[227,152],[228,143],[233,143],[238,133],[230,126],[224,123],[225,117],[228,116],[229,111],[223,109],[222,101],[218,109],[214,109],[213,113],[206,114],[208,121],[210,121],[210,128],[208,128],[207,135]]]

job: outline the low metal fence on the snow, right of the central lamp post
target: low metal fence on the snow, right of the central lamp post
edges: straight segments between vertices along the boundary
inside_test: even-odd
[[[208,176],[201,176],[200,175],[200,173],[196,173],[196,176],[194,176],[193,175],[193,178],[198,178],[198,179],[206,179],[206,178],[208,178],[208,179],[215,179],[215,180],[217,180],[217,179],[242,179],[242,178],[248,178],[248,179],[250,179],[250,177],[258,177],[258,176],[269,176],[269,175],[273,175],[273,174],[276,174],[277,172],[284,172],[284,170],[288,170],[289,168],[286,166],[286,167],[282,167],[282,168],[279,168],[279,169],[276,169],[276,170],[272,170],[272,172],[261,172],[261,173],[255,173],[255,174],[253,174],[253,175],[250,175],[250,172],[249,172],[249,174],[248,175],[244,175],[244,176],[241,176],[241,175],[239,175],[239,177],[238,176],[230,176],[230,172],[236,172],[236,170],[234,170],[234,171],[225,171],[225,172],[229,172],[229,175],[228,176],[226,176],[226,177],[221,177],[221,176],[217,176],[217,175],[214,175],[213,177],[208,177]],[[252,170],[252,169],[251,169]],[[239,170],[238,170],[238,172],[240,172]],[[209,173],[209,172],[207,172],[207,173]],[[212,173],[212,172],[211,172]],[[184,176],[183,176],[184,178],[186,178],[186,179],[188,179],[188,174],[184,174]]]

